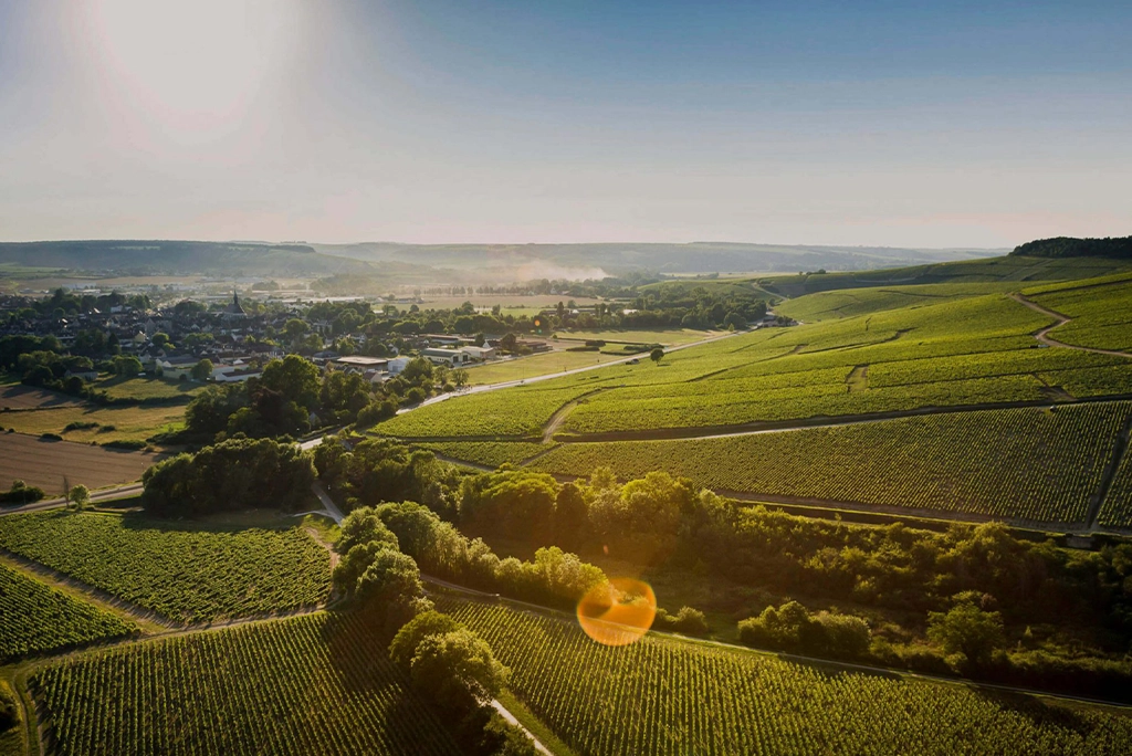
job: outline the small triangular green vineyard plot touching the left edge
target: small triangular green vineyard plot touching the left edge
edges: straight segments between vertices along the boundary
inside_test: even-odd
[[[0,664],[117,638],[137,626],[0,565]]]

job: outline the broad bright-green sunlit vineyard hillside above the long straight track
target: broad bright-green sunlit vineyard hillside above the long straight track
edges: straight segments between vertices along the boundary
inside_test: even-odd
[[[854,315],[740,334],[668,354],[660,364],[610,366],[454,397],[378,428],[446,441],[530,438],[576,401],[558,430],[584,437],[1132,393],[1132,360],[1038,349],[1032,334],[1050,319],[987,293],[1004,284],[943,289],[829,292],[821,297],[835,300],[827,303],[833,310]],[[1124,317],[1118,304],[1110,302],[1110,319]],[[850,390],[854,371],[861,380]]]

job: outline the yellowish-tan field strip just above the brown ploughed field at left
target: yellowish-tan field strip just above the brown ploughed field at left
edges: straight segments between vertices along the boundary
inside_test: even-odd
[[[144,441],[154,433],[182,428],[185,407],[126,406],[101,407],[83,404],[57,410],[31,410],[0,413],[0,424],[18,433],[57,433],[68,441],[105,444]],[[67,428],[71,427],[71,430]]]

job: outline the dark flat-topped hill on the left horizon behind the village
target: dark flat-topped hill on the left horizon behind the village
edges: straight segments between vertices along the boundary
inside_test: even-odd
[[[0,243],[0,264],[125,275],[333,275],[372,273],[363,260],[307,244],[212,241],[36,241]]]

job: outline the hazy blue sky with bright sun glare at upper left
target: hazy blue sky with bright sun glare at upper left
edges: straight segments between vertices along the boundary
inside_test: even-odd
[[[1127,235],[1130,29],[1112,0],[0,0],[0,240]]]

